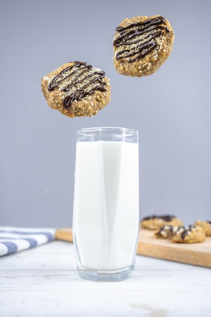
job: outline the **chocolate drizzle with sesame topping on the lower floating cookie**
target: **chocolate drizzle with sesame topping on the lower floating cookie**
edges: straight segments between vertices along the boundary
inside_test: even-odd
[[[53,91],[57,86],[64,84],[61,91],[67,94],[63,98],[63,106],[69,109],[74,100],[79,101],[82,98],[91,95],[96,90],[101,92],[107,91],[104,86],[104,71],[92,71],[93,66],[85,62],[74,62],[74,65],[64,68],[56,75],[48,86],[49,91]]]

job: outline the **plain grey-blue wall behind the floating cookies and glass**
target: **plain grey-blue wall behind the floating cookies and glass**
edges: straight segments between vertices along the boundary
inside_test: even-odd
[[[72,225],[75,133],[97,126],[139,130],[140,218],[211,220],[211,2],[0,3],[0,225]],[[118,74],[116,26],[154,14],[174,28],[170,58],[155,75]],[[92,118],[62,115],[40,90],[44,75],[75,60],[111,80],[111,101]]]

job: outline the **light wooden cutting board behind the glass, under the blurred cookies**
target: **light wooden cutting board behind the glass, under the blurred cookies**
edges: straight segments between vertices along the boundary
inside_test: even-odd
[[[178,244],[156,239],[153,234],[152,230],[140,229],[138,255],[211,268],[211,237],[201,243]],[[58,229],[56,239],[72,242],[72,228]]]

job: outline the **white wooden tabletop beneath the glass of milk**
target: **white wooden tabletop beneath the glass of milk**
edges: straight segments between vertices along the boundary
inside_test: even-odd
[[[137,256],[132,279],[90,282],[54,241],[0,258],[0,316],[210,317],[211,270]]]

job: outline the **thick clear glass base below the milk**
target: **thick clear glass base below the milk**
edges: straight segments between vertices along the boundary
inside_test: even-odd
[[[95,282],[121,282],[132,278],[134,266],[115,271],[98,271],[79,267],[78,276],[81,279]]]

